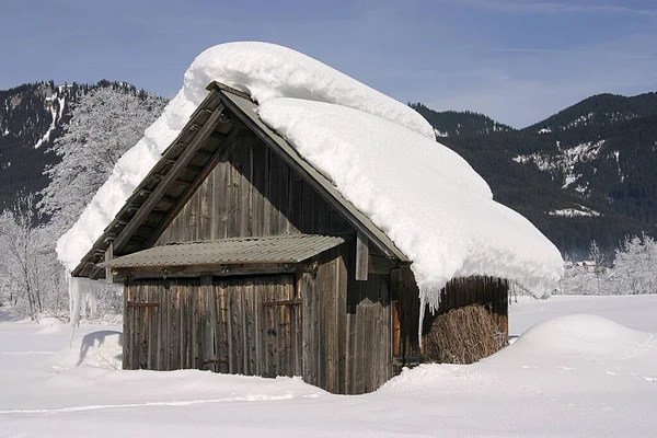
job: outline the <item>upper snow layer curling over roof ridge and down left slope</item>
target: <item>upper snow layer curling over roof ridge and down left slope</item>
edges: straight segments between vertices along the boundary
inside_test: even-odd
[[[116,163],[77,223],[57,242],[59,260],[73,269],[135,187],[175,139],[207,95],[211,81],[251,93],[264,103],[300,97],[344,105],[393,120],[425,137],[431,126],[415,111],[348,76],[292,49],[268,43],[229,43],[200,54],[185,72],[184,87],[143,138]]]

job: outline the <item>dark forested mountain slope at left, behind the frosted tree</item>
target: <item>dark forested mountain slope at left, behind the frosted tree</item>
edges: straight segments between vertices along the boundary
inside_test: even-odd
[[[124,82],[55,84],[26,83],[0,90],[0,211],[11,206],[20,193],[37,193],[49,183],[46,166],[58,162],[49,151],[80,96],[100,87],[147,95]]]

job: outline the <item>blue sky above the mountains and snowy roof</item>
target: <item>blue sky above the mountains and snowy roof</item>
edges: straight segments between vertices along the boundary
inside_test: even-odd
[[[655,0],[0,0],[0,89],[104,78],[173,95],[196,55],[231,41],[516,127],[591,94],[657,91]]]

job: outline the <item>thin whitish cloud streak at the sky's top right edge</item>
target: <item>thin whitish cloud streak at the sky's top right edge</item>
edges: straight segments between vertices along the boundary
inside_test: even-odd
[[[509,0],[435,0],[439,3],[459,4],[470,8],[487,9],[503,12],[522,13],[577,13],[599,12],[612,14],[629,14],[641,16],[657,16],[655,9],[635,9],[613,4],[573,4],[558,2],[526,2]]]

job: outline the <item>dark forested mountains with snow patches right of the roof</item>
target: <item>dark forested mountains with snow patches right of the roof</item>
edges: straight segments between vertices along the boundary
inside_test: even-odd
[[[488,182],[562,252],[591,240],[610,252],[625,234],[657,234],[657,93],[600,94],[514,129],[470,112],[411,106],[438,141]]]

